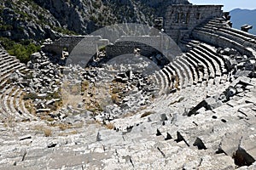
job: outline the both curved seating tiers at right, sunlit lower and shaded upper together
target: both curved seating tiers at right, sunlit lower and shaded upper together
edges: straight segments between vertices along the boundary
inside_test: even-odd
[[[231,28],[224,18],[207,20],[197,26],[191,35],[194,40],[183,40],[189,52],[177,57],[163,70],[155,72],[154,82],[160,87],[160,94],[201,82],[209,83],[208,80],[213,77],[222,77],[221,82],[224,82],[227,78],[224,75],[228,74],[227,67],[215,47],[235,48],[248,57],[256,56],[256,36]]]

